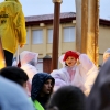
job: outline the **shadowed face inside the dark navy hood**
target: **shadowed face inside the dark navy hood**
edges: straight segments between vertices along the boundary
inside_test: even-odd
[[[47,79],[43,86],[42,92],[44,94],[51,94],[53,89],[53,82],[52,79]]]

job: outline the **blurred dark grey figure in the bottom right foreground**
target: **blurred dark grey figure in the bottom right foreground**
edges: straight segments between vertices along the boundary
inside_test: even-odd
[[[110,110],[110,58],[100,68],[86,105],[86,110]]]

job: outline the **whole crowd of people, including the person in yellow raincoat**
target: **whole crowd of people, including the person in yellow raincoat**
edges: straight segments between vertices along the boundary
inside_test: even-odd
[[[0,35],[6,59],[0,69],[0,110],[110,110],[110,48],[100,68],[87,54],[67,51],[59,57],[63,68],[38,73],[38,53],[24,51],[13,58],[18,45],[25,44],[19,0],[0,3]]]

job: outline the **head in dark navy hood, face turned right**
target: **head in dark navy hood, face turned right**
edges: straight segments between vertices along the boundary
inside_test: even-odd
[[[32,100],[37,97],[51,96],[53,92],[55,80],[47,73],[37,73],[32,79],[31,98]]]

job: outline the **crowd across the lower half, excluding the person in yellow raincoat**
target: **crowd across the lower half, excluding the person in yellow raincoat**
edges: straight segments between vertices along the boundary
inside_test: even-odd
[[[64,67],[52,73],[36,70],[37,53],[23,53],[21,67],[14,58],[0,70],[0,110],[109,110],[110,48],[100,68],[67,51],[59,57]]]

